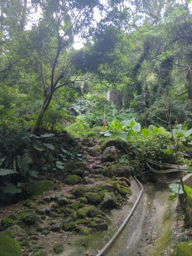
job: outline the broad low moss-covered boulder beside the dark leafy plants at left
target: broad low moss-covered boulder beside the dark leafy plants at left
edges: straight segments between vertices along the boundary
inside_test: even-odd
[[[40,181],[35,181],[30,185],[29,190],[34,194],[34,195],[40,195],[43,194],[45,191],[50,191],[52,190],[54,186],[54,183],[51,180],[40,180]]]

